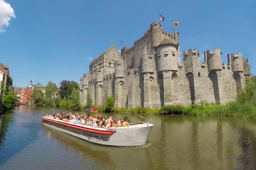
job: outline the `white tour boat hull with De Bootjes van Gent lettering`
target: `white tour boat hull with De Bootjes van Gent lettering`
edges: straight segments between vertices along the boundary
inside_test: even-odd
[[[42,117],[42,124],[83,140],[108,146],[140,146],[147,143],[153,127],[150,123],[139,123],[126,127],[93,128],[88,125],[64,122]]]

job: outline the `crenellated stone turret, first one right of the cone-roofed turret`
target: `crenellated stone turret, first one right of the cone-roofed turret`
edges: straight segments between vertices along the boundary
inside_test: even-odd
[[[197,49],[183,51],[183,63],[186,74],[192,72],[194,75],[198,75],[201,66],[199,51]]]

